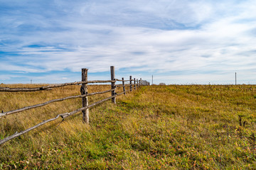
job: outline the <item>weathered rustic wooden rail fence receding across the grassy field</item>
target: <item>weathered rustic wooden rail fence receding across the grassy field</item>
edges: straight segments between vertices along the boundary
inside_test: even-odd
[[[122,78],[122,79],[115,79],[115,77],[114,77],[114,66],[110,67],[110,72],[111,72],[111,79],[110,80],[87,81],[87,72],[88,72],[88,69],[82,69],[82,81],[73,82],[73,83],[53,84],[53,85],[41,86],[41,87],[37,87],[37,88],[8,88],[8,87],[0,87],[0,92],[1,91],[18,92],[18,91],[43,91],[43,90],[50,90],[50,89],[61,87],[61,86],[70,86],[70,85],[82,84],[82,86],[80,88],[81,95],[78,95],[78,96],[68,96],[68,97],[65,97],[65,98],[58,98],[58,99],[54,99],[54,100],[51,100],[51,101],[46,101],[45,103],[40,103],[40,104],[33,105],[33,106],[26,106],[24,108],[19,108],[19,109],[14,110],[14,111],[7,111],[7,112],[0,113],[0,118],[1,118],[3,116],[6,116],[6,115],[11,115],[11,114],[18,113],[18,112],[21,112],[21,111],[26,111],[28,109],[38,108],[38,107],[41,107],[41,106],[46,106],[46,105],[48,105],[50,103],[54,103],[54,102],[57,102],[57,101],[65,101],[65,100],[68,100],[68,99],[71,99],[71,98],[82,98],[82,108],[78,108],[77,110],[72,111],[70,113],[59,114],[55,118],[51,118],[51,119],[48,119],[48,120],[43,120],[43,122],[38,123],[37,125],[34,125],[31,128],[28,128],[28,129],[23,130],[21,132],[16,132],[14,135],[11,135],[9,137],[4,138],[3,140],[0,140],[0,145],[4,144],[5,142],[7,142],[9,140],[14,139],[15,137],[21,136],[21,135],[23,135],[26,132],[29,132],[29,131],[31,131],[33,129],[36,129],[36,128],[40,127],[41,125],[49,123],[49,122],[51,122],[53,120],[56,120],[58,118],[63,118],[63,119],[67,118],[70,115],[74,115],[75,113],[78,113],[80,111],[82,111],[82,122],[89,124],[89,108],[91,108],[93,106],[96,106],[97,104],[100,104],[100,103],[105,102],[105,101],[110,100],[110,99],[112,99],[113,103],[116,103],[116,97],[117,96],[122,95],[122,94],[126,94],[128,91],[139,89],[140,86],[149,85],[148,81],[142,80],[142,78],[140,78],[140,79],[135,79],[135,78],[132,79],[132,76],[129,77],[129,80],[124,80],[124,78]],[[122,81],[122,85],[119,85],[119,86],[115,85],[117,81]],[[124,82],[126,82],[126,81],[129,81],[129,84],[124,84]],[[100,84],[100,83],[111,83],[111,89],[107,90],[107,91],[99,91],[99,92],[94,92],[94,93],[88,94],[87,93],[87,84],[95,84],[95,83],[97,83],[97,84]],[[129,90],[125,89],[126,86],[129,86]],[[119,93],[119,94],[116,93],[116,89],[118,87],[121,87],[123,89],[122,93]],[[110,97],[104,98],[101,101],[97,101],[97,102],[92,103],[90,105],[88,104],[89,102],[88,102],[87,96],[93,96],[93,95],[96,95],[96,94],[105,94],[107,92],[111,92],[111,96]]]

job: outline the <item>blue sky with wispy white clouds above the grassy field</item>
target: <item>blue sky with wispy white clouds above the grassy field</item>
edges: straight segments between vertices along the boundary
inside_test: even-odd
[[[0,0],[0,84],[256,84],[255,0]]]

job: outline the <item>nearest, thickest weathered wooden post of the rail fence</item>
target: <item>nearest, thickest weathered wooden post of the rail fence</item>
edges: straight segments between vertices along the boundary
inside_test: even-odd
[[[82,69],[82,81],[88,81],[88,69]],[[81,95],[87,94],[87,83],[82,84],[81,89],[80,89]],[[88,106],[88,97],[83,97],[82,98],[82,107]],[[86,110],[82,111],[82,122],[89,124],[89,108]]]

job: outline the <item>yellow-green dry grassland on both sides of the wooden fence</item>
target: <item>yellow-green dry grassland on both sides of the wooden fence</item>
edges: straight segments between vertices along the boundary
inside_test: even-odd
[[[78,95],[79,89],[1,92],[0,109]],[[89,92],[106,89],[90,86]],[[256,86],[249,85],[143,86],[119,96],[116,105],[90,109],[90,125],[78,114],[6,142],[0,169],[256,169],[255,98]],[[0,137],[80,107],[73,99],[0,118]]]

